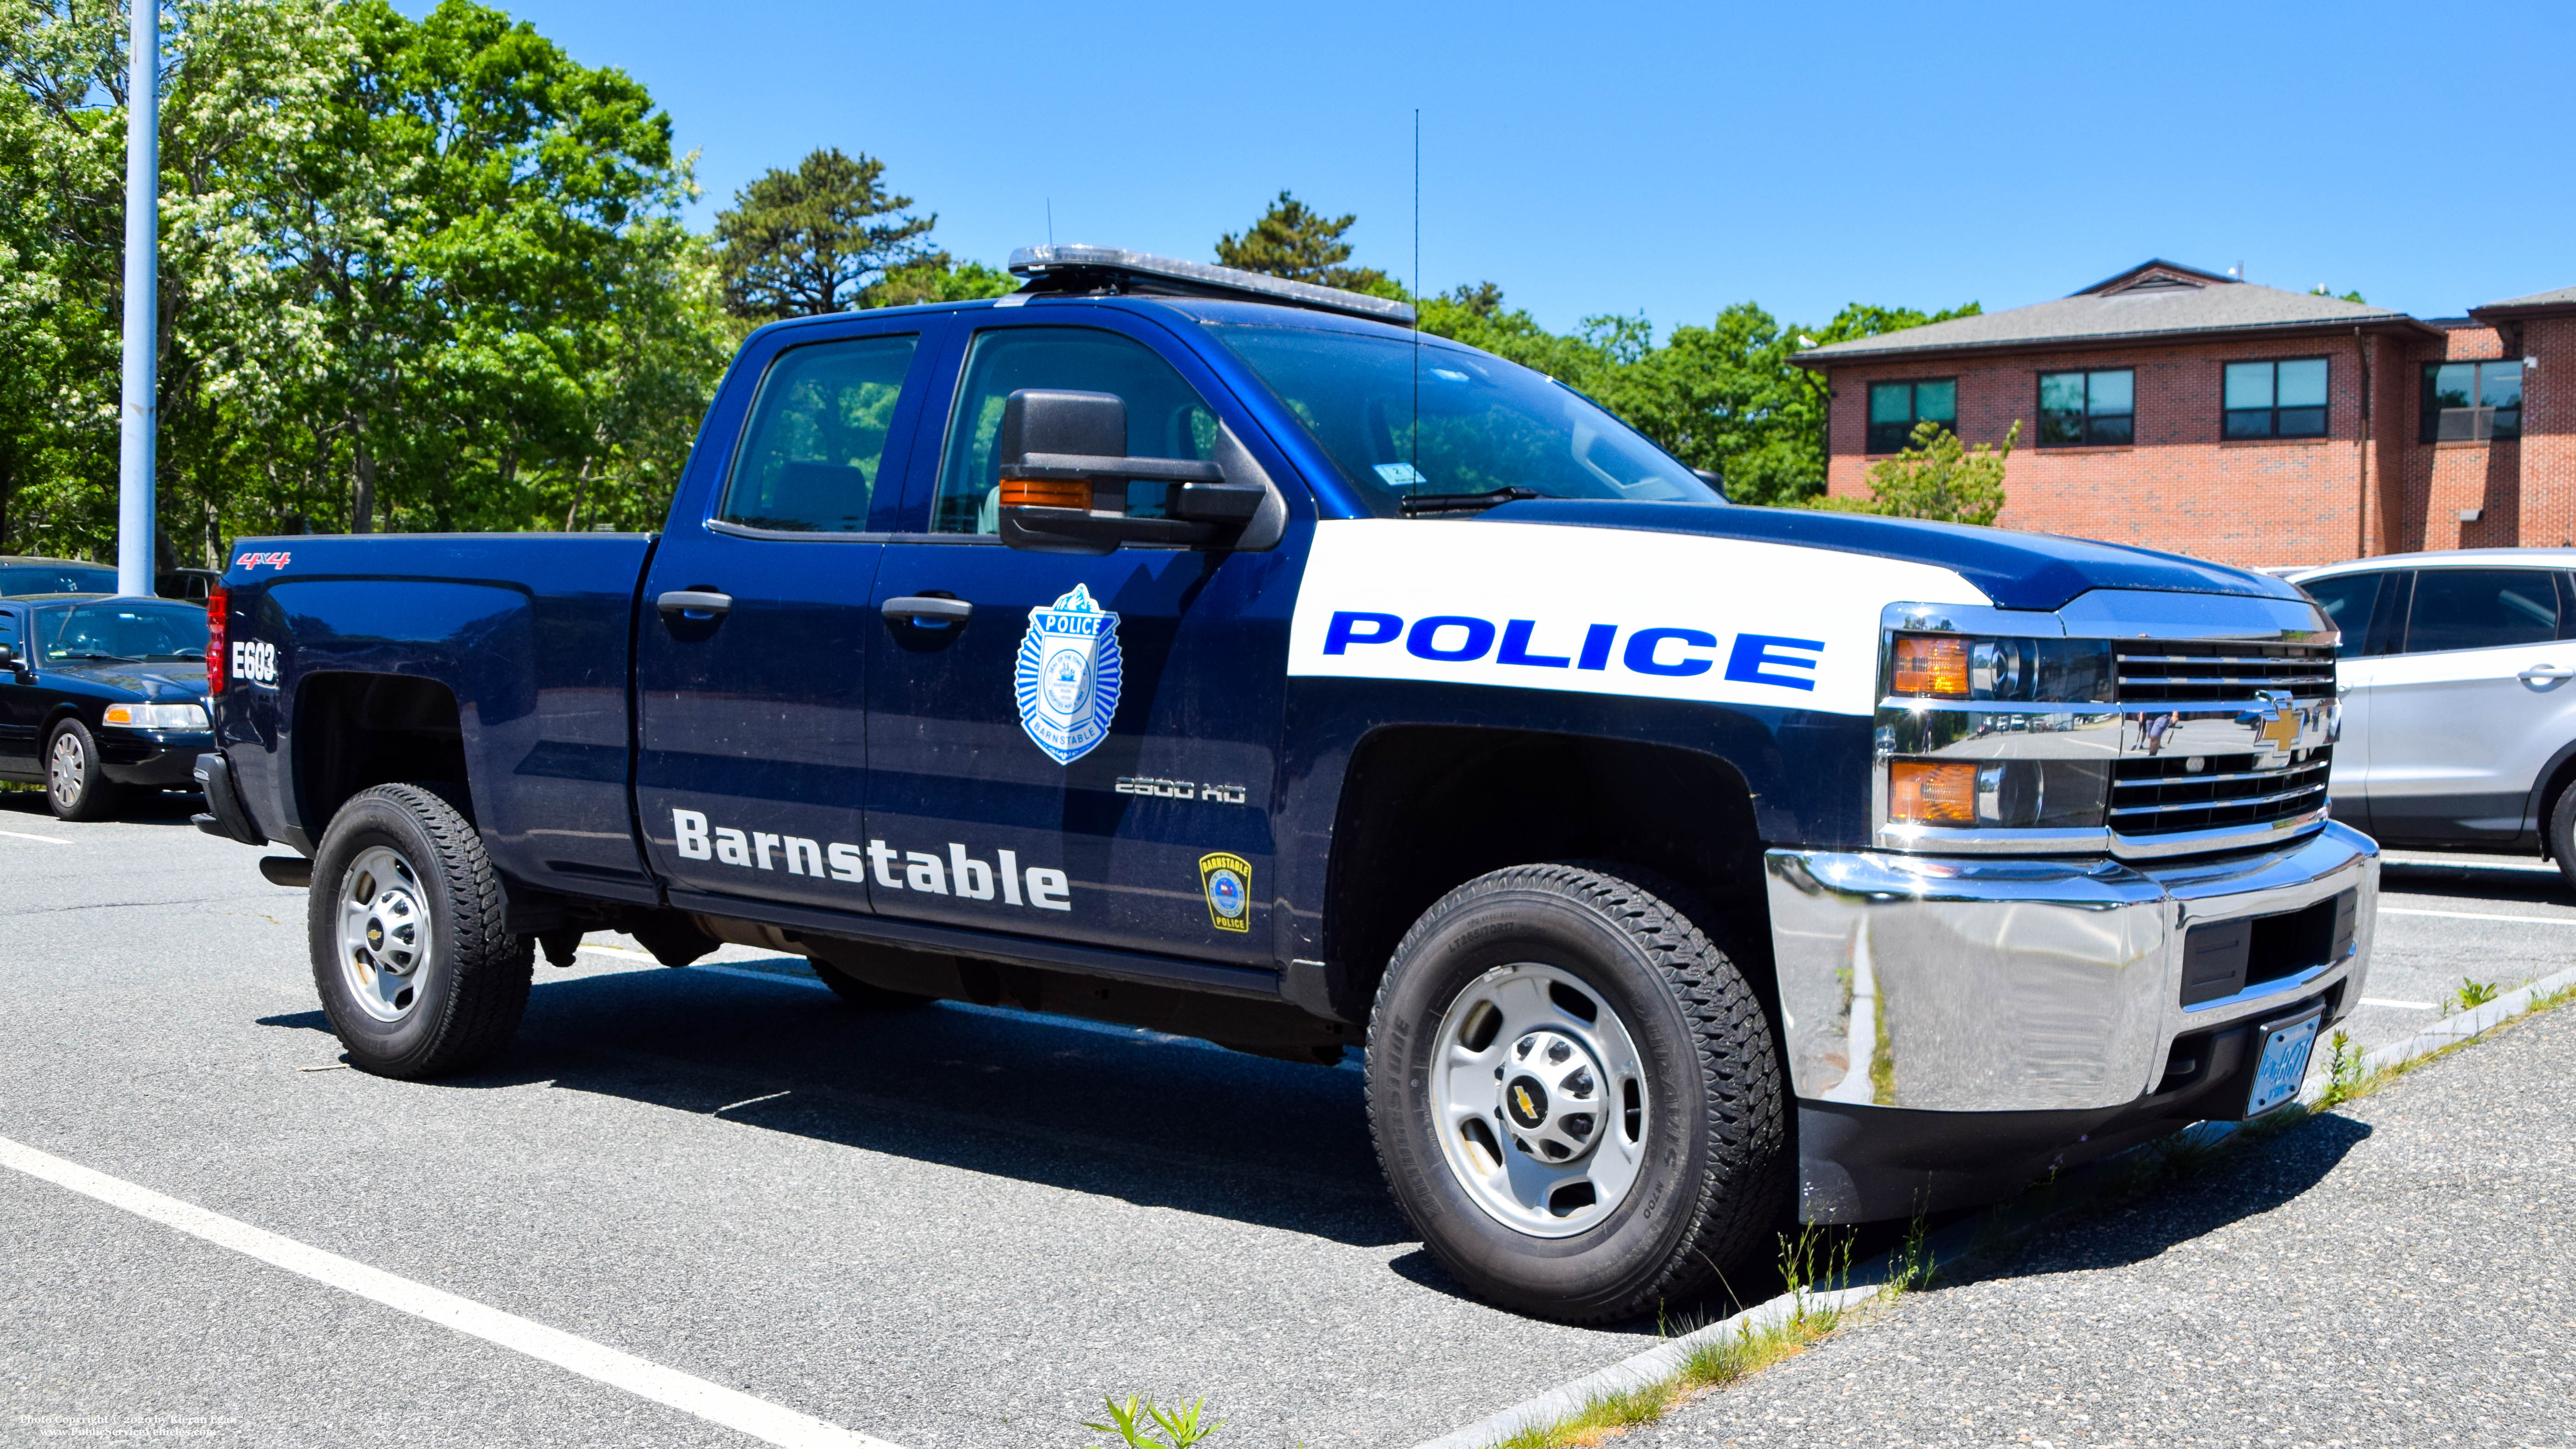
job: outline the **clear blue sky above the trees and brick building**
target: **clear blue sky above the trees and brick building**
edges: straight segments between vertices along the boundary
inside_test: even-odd
[[[422,0],[402,0],[422,13]],[[1280,188],[1551,327],[1986,309],[2161,255],[2419,317],[2576,286],[2576,5],[518,0],[706,201],[868,152],[961,257],[1211,257]]]

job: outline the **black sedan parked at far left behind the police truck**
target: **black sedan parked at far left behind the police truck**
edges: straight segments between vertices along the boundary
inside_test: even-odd
[[[93,595],[0,597],[0,780],[67,821],[129,790],[191,788],[214,749],[206,610]]]

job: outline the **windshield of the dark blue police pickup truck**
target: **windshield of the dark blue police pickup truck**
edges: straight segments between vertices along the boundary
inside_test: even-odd
[[[1216,324],[1211,332],[1298,414],[1378,515],[1401,512],[1406,497],[1494,489],[1551,499],[1721,502],[1625,422],[1517,363],[1319,327]]]

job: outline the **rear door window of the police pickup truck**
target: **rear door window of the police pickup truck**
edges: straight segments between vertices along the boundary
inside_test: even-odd
[[[866,533],[917,345],[855,337],[781,353],[760,381],[719,517],[786,533]]]

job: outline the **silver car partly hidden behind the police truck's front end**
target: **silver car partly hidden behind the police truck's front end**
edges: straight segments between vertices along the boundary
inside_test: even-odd
[[[2290,579],[2344,631],[2334,818],[2401,849],[2540,852],[2576,883],[2576,548]]]

